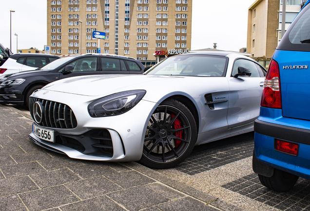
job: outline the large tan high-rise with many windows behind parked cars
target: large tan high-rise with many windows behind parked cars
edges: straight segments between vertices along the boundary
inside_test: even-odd
[[[92,37],[105,32],[105,40]],[[192,0],[47,0],[51,54],[101,53],[152,61],[191,49]]]

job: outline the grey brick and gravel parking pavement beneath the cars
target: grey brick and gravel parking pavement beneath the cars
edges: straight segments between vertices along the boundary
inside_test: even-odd
[[[310,181],[289,192],[252,171],[253,133],[197,146],[173,169],[74,160],[33,144],[29,112],[0,105],[0,210],[310,210]]]

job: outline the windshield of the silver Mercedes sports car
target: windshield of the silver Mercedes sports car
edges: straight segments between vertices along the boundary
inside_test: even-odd
[[[211,55],[178,55],[157,64],[148,75],[224,77],[228,58]]]

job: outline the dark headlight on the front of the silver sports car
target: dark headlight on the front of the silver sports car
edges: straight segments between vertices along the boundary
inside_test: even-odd
[[[145,95],[145,90],[131,90],[112,94],[88,105],[91,117],[115,116],[129,111]]]

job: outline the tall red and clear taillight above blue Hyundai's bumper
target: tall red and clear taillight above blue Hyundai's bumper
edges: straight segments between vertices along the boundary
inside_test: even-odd
[[[261,106],[269,108],[282,108],[279,64],[271,60],[262,94]]]

